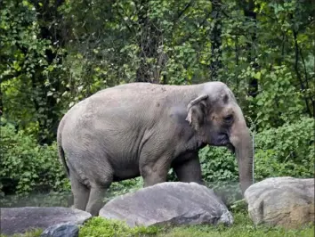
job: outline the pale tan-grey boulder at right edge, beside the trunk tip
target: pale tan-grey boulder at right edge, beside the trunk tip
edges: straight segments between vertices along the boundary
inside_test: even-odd
[[[314,222],[314,179],[272,177],[244,193],[254,224],[295,228]]]

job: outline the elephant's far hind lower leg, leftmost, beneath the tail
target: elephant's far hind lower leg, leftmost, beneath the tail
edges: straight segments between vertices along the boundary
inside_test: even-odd
[[[74,208],[85,210],[89,200],[90,189],[82,184],[76,176],[70,175],[71,191],[74,198]]]

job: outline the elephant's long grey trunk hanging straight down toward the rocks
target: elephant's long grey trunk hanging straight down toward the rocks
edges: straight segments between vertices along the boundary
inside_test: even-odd
[[[233,144],[238,159],[238,174],[241,190],[253,184],[253,143],[246,121],[239,109],[238,118],[230,133],[230,143]]]

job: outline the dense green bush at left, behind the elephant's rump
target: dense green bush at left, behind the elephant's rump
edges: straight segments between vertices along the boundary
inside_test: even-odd
[[[0,191],[25,194],[68,190],[69,182],[57,155],[56,143],[39,146],[31,135],[6,123],[1,127]]]

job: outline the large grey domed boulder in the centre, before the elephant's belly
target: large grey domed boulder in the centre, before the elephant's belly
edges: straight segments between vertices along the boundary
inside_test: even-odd
[[[233,223],[230,211],[211,189],[181,182],[156,184],[118,196],[101,208],[100,216],[132,227]]]

